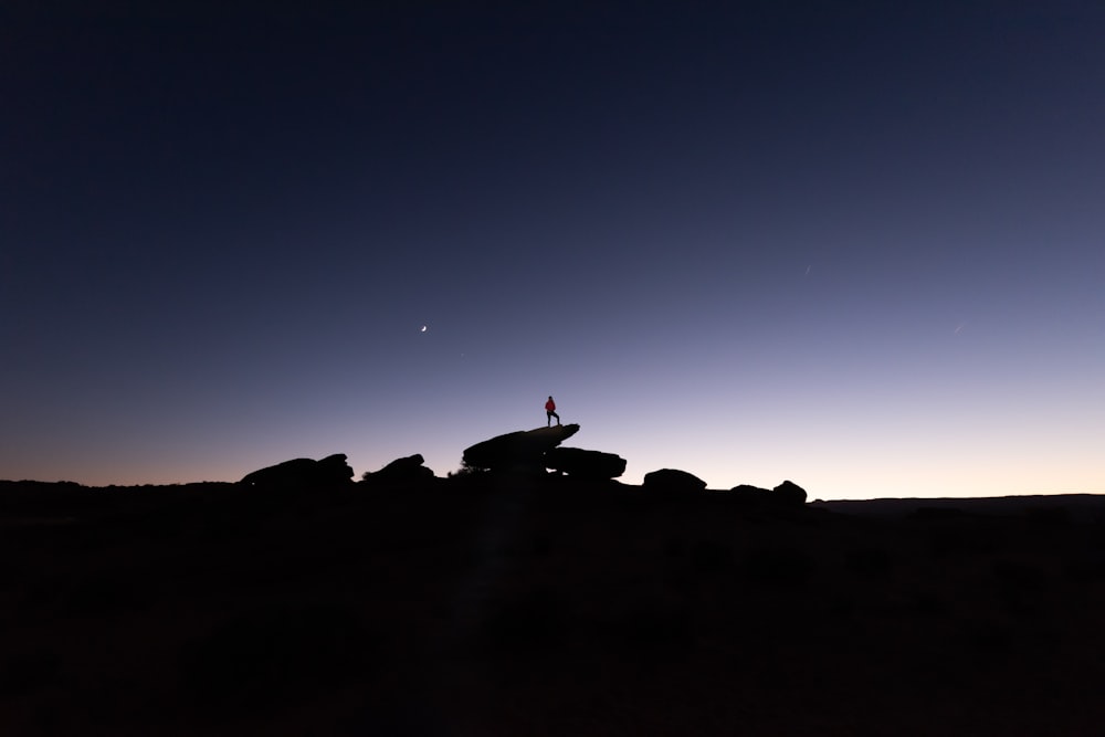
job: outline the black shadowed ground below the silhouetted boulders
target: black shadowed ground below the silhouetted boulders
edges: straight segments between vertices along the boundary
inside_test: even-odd
[[[3,735],[1096,735],[1102,497],[0,483]]]

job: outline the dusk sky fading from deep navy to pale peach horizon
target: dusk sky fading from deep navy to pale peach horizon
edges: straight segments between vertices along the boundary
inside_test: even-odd
[[[0,9],[0,478],[552,394],[629,483],[1105,493],[1101,2],[88,4]]]

